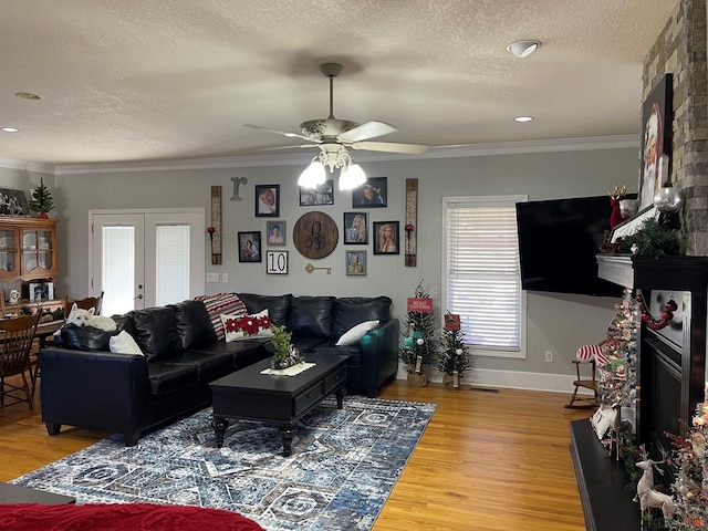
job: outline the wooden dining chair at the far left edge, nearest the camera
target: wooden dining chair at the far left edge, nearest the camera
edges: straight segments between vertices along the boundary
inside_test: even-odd
[[[30,352],[39,322],[39,314],[0,321],[0,407],[27,402],[30,409],[34,409],[33,392],[30,387],[30,383],[34,381]],[[25,373],[29,374],[29,378]],[[8,382],[12,376],[21,376],[22,385]],[[24,398],[20,393],[24,393]],[[11,402],[7,403],[6,397]]]

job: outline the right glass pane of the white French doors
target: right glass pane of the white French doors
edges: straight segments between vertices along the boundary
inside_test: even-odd
[[[156,301],[158,306],[189,299],[189,226],[157,226]]]

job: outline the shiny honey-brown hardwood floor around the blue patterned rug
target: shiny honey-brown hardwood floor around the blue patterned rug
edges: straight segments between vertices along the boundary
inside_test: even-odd
[[[569,423],[592,410],[563,408],[570,391],[451,391],[396,381],[379,397],[438,406],[374,531],[585,529],[568,448]],[[64,427],[50,437],[39,404],[33,413],[27,404],[0,408],[0,481],[106,435]]]

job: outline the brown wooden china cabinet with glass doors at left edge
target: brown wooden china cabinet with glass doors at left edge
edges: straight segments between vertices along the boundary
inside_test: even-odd
[[[0,217],[0,282],[53,281],[56,277],[58,219]],[[34,304],[27,298],[7,304],[8,311]],[[61,301],[45,301],[44,308],[61,308]]]

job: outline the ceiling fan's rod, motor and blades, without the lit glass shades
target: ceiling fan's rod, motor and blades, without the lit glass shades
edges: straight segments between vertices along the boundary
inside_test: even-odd
[[[300,124],[300,133],[288,133],[283,131],[270,129],[260,125],[243,124],[252,129],[263,129],[283,135],[288,138],[301,138],[310,144],[288,147],[313,147],[319,146],[323,153],[331,154],[339,152],[341,147],[352,149],[365,149],[371,152],[387,153],[424,153],[428,146],[423,144],[399,144],[393,142],[368,142],[369,138],[389,135],[398,129],[384,122],[366,122],[358,124],[348,119],[334,117],[334,77],[342,72],[340,63],[324,63],[320,65],[320,72],[330,79],[330,115],[326,118],[309,119]]]

